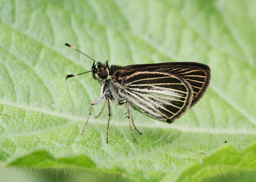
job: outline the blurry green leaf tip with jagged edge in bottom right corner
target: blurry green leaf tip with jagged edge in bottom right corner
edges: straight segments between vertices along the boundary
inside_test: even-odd
[[[221,171],[221,177],[217,175],[216,170]],[[248,173],[249,171],[251,174]],[[202,164],[193,164],[185,169],[176,182],[206,181],[211,176],[212,181],[238,180],[241,177],[243,179],[244,174],[251,175],[251,179],[255,180],[255,171],[256,142],[245,148],[242,153],[232,146],[226,145],[217,149],[211,156],[203,158]],[[166,181],[167,178],[168,175],[166,175]]]

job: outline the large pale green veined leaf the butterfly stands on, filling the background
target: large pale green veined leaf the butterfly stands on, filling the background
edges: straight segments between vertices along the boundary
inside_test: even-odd
[[[11,166],[0,178],[19,167],[52,181],[255,179],[255,9],[252,0],[0,0],[0,164]],[[103,103],[80,135],[100,85],[90,73],[65,81],[92,66],[66,42],[120,66],[201,62],[211,83],[173,124],[132,112],[139,145],[112,105],[106,144],[107,109],[94,118]]]

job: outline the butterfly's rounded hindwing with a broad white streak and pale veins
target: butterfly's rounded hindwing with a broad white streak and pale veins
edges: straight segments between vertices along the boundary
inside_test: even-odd
[[[119,95],[133,109],[167,123],[186,112],[193,98],[190,84],[168,72],[136,71],[125,77],[121,85]]]

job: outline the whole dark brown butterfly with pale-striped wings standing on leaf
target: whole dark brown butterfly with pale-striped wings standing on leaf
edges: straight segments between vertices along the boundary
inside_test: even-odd
[[[75,49],[70,44],[66,43],[65,45]],[[79,52],[85,55],[83,52]],[[89,56],[87,57],[90,58]],[[169,124],[173,123],[175,119],[179,118],[200,100],[211,80],[210,67],[197,62],[109,66],[108,62],[103,64],[92,58],[90,59],[94,61],[91,70],[84,73],[91,72],[93,79],[97,80],[101,85],[101,97],[91,103],[83,132],[90,118],[92,106],[101,101],[105,101],[105,106],[105,103],[108,102],[109,119],[106,143],[108,143],[111,116],[110,101],[117,105],[125,106],[131,133],[130,120],[132,120],[136,131],[139,132],[132,119],[131,112],[133,109],[155,120]],[[68,75],[66,80],[69,77],[84,73]],[[141,134],[141,132],[139,133]],[[133,133],[132,137],[138,143]]]

